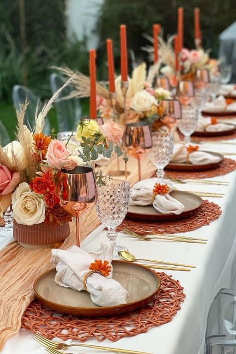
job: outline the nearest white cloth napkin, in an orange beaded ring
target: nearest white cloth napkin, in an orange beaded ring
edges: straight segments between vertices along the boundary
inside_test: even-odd
[[[77,246],[71,246],[66,250],[52,249],[51,262],[56,264],[56,283],[66,288],[83,290],[84,277],[90,271],[89,266],[95,259],[107,260],[111,265],[113,259],[111,242],[102,242],[101,249],[91,253]],[[112,279],[112,271],[108,277],[98,273],[89,275],[86,285],[92,301],[99,306],[116,306],[127,302],[128,292]]]

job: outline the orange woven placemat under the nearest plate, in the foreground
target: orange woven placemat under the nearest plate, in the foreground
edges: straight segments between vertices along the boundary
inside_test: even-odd
[[[80,342],[90,338],[116,342],[147,332],[149,328],[170,322],[185,298],[178,280],[165,273],[158,274],[161,278],[159,294],[137,311],[116,317],[85,318],[55,313],[35,300],[24,312],[21,328],[40,332],[49,339],[58,337],[63,341],[73,339]]]

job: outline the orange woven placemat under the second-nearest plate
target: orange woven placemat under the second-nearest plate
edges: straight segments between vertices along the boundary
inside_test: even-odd
[[[134,231],[140,235],[145,234],[174,234],[186,233],[201,228],[204,225],[209,225],[212,221],[218,219],[222,211],[218,204],[203,201],[203,205],[199,208],[197,214],[188,219],[168,221],[165,223],[151,223],[142,221],[124,220],[117,230],[123,228]]]

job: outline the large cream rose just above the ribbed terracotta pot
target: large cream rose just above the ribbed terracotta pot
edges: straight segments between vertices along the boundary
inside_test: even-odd
[[[31,192],[27,183],[20,183],[12,193],[13,218],[18,224],[35,225],[45,220],[45,205],[39,194]]]

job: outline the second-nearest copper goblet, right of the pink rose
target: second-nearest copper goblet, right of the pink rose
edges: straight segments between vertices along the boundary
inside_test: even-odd
[[[123,145],[127,154],[137,159],[138,180],[141,180],[140,158],[146,156],[152,148],[151,131],[143,122],[130,123],[126,125],[123,135]]]

